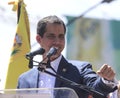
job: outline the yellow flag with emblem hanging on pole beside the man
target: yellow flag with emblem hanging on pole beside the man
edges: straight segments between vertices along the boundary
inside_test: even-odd
[[[15,10],[16,2],[14,2]],[[14,44],[8,66],[5,89],[17,87],[19,75],[28,70],[29,61],[25,54],[30,52],[30,29],[27,12],[23,0],[19,0],[17,5],[18,24],[14,38]]]

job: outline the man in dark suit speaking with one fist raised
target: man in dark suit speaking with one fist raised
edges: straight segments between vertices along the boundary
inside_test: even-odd
[[[98,72],[100,77],[92,70],[92,65],[88,62],[68,61],[65,59],[61,54],[65,46],[65,33],[66,26],[57,16],[48,16],[38,22],[36,40],[45,49],[43,62],[48,63],[49,59],[50,65],[54,69],[45,68],[45,70],[58,74],[74,83],[91,87],[107,96],[115,88],[114,71],[109,65],[104,64]],[[57,53],[50,56],[50,58],[46,58],[51,47],[57,49]],[[79,98],[88,98],[89,93],[81,89],[79,85],[74,86],[74,84],[61,81],[52,75],[39,71],[37,68],[32,68],[20,75],[17,86],[19,89],[54,87],[72,88]],[[97,97],[99,98],[99,96]]]

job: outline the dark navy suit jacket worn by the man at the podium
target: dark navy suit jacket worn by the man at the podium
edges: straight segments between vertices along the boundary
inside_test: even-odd
[[[101,78],[92,70],[92,66],[88,62],[68,62],[64,57],[62,57],[57,74],[77,84],[92,87],[95,91],[104,95],[107,95],[113,89],[102,82]],[[20,75],[17,88],[37,88],[38,82],[38,69],[33,68]],[[83,90],[79,85],[74,86],[74,84],[66,83],[58,78],[56,78],[55,87],[72,88],[79,98],[87,98],[87,95],[89,94],[88,91],[91,91],[91,89],[88,89],[88,91]],[[96,95],[96,93],[93,93],[93,96],[97,96],[96,98],[102,98]]]

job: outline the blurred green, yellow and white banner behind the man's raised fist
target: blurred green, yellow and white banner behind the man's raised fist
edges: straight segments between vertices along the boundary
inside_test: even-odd
[[[68,21],[74,17],[67,16]],[[66,56],[88,61],[97,71],[109,64],[120,79],[120,21],[80,18],[68,26]]]

